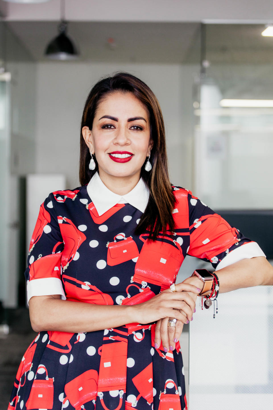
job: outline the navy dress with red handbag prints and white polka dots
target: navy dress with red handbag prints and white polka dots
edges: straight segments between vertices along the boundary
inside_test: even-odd
[[[190,191],[173,190],[176,230],[149,243],[148,233],[134,234],[142,212],[130,203],[99,216],[86,186],[50,194],[29,248],[25,276],[32,294],[133,305],[174,283],[187,254],[215,269],[228,252],[248,246],[249,239]],[[162,344],[155,348],[154,335],[155,323],[40,332],[20,363],[9,410],[187,409],[179,341],[165,353]]]

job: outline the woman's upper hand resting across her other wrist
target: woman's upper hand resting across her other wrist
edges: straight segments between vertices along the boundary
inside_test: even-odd
[[[187,292],[197,295],[201,289],[184,282],[176,284],[175,287],[176,292],[168,288],[153,296],[149,301],[132,305],[136,312],[136,322],[151,323],[165,317],[172,317],[183,323],[190,321],[195,309],[195,301]]]

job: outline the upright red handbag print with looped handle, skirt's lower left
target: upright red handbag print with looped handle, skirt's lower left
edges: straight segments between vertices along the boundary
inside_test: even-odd
[[[53,408],[53,394],[54,394],[54,377],[49,378],[45,366],[40,365],[38,369],[45,369],[45,380],[38,380],[36,375],[34,377],[32,388],[30,390],[29,398],[26,403],[27,410],[30,409],[52,409]],[[37,370],[38,371],[38,370]]]

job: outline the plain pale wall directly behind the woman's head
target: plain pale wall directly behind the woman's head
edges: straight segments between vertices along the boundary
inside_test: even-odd
[[[156,94],[165,119],[171,181],[191,188],[192,82],[198,66],[178,64],[37,64],[36,172],[64,173],[79,185],[79,135],[83,106],[102,75],[129,71]]]

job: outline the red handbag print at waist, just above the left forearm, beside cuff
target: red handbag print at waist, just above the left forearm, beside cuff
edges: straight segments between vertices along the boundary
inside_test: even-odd
[[[103,293],[99,288],[89,282],[82,282],[71,276],[62,275],[65,283],[66,297],[70,301],[94,303],[95,305],[113,305],[113,299],[108,293]],[[72,282],[72,283],[71,283]]]

